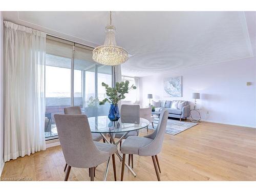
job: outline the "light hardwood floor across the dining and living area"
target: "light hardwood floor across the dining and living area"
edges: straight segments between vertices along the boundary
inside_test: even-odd
[[[149,130],[151,133],[152,130]],[[146,129],[140,136],[146,135]],[[116,157],[117,180],[121,162]],[[128,161],[128,156],[126,160]],[[256,129],[218,123],[201,122],[178,135],[165,134],[158,155],[162,181],[188,180],[256,180]],[[47,148],[5,163],[2,180],[27,178],[63,181],[65,159],[60,146]],[[106,163],[96,168],[96,181],[102,181]],[[134,155],[134,177],[124,169],[124,181],[157,181],[151,157]],[[69,180],[90,181],[89,169],[71,168]],[[113,181],[112,161],[108,181]]]

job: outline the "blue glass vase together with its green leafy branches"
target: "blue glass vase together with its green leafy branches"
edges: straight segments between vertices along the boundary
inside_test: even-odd
[[[124,94],[129,93],[129,90],[135,90],[137,88],[134,85],[129,87],[129,81],[116,82],[114,88],[109,87],[109,85],[104,82],[102,82],[102,86],[105,87],[106,96],[108,96],[109,98],[103,99],[99,102],[99,104],[102,105],[105,104],[105,102],[111,103],[109,119],[111,121],[117,121],[120,118],[120,113],[117,105],[118,101],[124,99]]]

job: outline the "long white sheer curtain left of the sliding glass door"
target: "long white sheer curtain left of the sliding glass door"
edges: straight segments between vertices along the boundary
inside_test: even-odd
[[[46,149],[46,34],[4,22],[4,160]]]

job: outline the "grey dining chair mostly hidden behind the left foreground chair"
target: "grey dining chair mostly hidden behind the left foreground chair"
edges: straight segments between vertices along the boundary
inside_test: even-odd
[[[80,106],[69,106],[68,108],[64,108],[64,114],[66,115],[82,115],[82,111]],[[94,141],[100,141],[102,138],[102,136],[99,133],[92,133],[92,137]],[[105,140],[103,139],[103,142],[105,142]],[[65,168],[64,168],[64,172],[66,172],[68,164],[66,163]],[[89,174],[91,175],[91,172],[89,171]],[[94,176],[95,176],[95,169],[94,169]]]

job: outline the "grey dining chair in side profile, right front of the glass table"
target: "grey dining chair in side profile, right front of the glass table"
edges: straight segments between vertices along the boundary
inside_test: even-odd
[[[157,154],[159,154],[162,149],[167,119],[168,111],[162,110],[157,128],[152,134],[146,135],[144,137],[130,136],[123,142],[121,146],[121,153],[123,154],[121,181],[123,180],[125,154],[151,156],[155,167],[157,179],[158,181],[160,181],[159,172],[161,173],[161,169]]]

